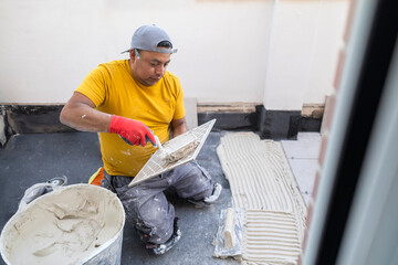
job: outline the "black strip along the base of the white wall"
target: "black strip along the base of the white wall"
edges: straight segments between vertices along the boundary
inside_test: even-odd
[[[63,104],[0,104],[0,146],[14,134],[75,131],[60,123]],[[262,138],[294,139],[298,131],[320,131],[322,105],[302,110],[270,110],[256,103],[199,103],[198,125],[213,118],[214,130],[252,130]]]

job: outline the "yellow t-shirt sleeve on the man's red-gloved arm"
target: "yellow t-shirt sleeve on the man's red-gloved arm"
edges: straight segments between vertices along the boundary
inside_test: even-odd
[[[82,82],[82,84],[75,89],[75,92],[82,93],[88,97],[95,106],[100,106],[106,95],[107,82],[106,71],[103,66],[94,68]]]

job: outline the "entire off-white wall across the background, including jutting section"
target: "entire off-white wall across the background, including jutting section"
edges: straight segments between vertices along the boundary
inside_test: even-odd
[[[2,0],[0,103],[65,103],[93,67],[127,57],[136,28],[156,23],[179,50],[169,71],[187,97],[298,109],[332,87],[345,3]]]

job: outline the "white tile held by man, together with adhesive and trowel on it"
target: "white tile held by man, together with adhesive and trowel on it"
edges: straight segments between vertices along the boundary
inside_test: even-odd
[[[159,139],[155,136],[158,149],[144,165],[142,170],[139,170],[128,187],[136,186],[184,163],[193,161],[199,155],[214,123],[216,119],[212,119],[166,141],[164,145],[161,145]]]

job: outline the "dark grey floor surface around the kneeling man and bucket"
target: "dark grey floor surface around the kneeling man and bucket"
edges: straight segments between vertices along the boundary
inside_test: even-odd
[[[124,227],[122,264],[239,264],[228,258],[212,257],[213,237],[219,214],[231,204],[231,191],[216,148],[223,132],[211,132],[198,162],[222,184],[223,192],[216,204],[195,208],[175,195],[169,200],[180,218],[180,242],[168,253],[156,256],[145,250],[136,232],[127,222]],[[23,192],[34,183],[66,176],[69,184],[85,183],[102,166],[96,134],[32,134],[13,136],[4,149],[0,148],[0,229],[15,213]],[[1,259],[0,264],[4,264]]]

